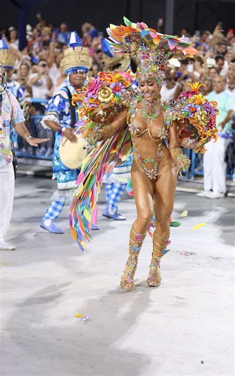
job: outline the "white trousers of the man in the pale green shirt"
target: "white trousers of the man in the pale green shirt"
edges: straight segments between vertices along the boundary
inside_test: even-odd
[[[226,192],[225,153],[230,139],[218,137],[205,145],[207,151],[203,157],[204,190],[212,189],[215,193]]]

